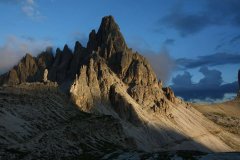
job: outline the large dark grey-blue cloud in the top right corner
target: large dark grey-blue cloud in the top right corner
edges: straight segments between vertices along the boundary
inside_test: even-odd
[[[240,27],[239,0],[203,0],[192,1],[199,11],[186,11],[189,1],[182,1],[162,17],[158,24],[175,29],[181,36],[191,35],[214,25],[231,25]],[[194,7],[194,6],[193,6]]]

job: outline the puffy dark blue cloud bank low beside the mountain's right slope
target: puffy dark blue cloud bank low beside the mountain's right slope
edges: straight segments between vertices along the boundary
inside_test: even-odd
[[[220,71],[202,67],[199,72],[201,72],[204,77],[198,83],[192,82],[192,76],[187,71],[182,75],[174,77],[171,87],[175,94],[187,101],[196,99],[206,101],[207,99],[223,99],[227,93],[237,93],[237,82],[222,84],[223,80]]]

